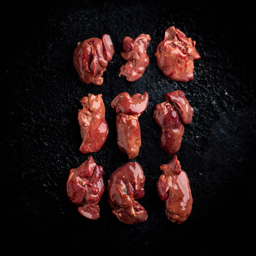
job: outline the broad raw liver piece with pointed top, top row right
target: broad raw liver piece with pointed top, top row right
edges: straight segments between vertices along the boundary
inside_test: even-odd
[[[157,46],[155,57],[157,66],[170,80],[188,82],[194,77],[193,61],[201,56],[195,50],[195,41],[179,29],[170,27]]]

